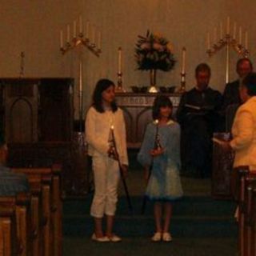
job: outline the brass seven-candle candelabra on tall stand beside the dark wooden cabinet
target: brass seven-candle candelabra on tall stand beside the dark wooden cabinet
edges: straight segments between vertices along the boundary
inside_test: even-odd
[[[63,31],[60,31],[60,51],[66,54],[70,50],[74,50],[78,46],[86,46],[95,56],[99,57],[102,53],[101,50],[101,32],[98,32],[98,42],[95,43],[96,30],[91,26],[91,39],[89,37],[90,23],[86,22],[86,34],[82,32],[82,17],[79,17],[79,33],[77,34],[77,22],[73,22],[73,39],[70,40],[70,25],[66,26],[66,42],[63,43]],[[83,118],[83,86],[82,86],[82,52],[79,56],[79,91],[78,91],[78,106],[79,106],[79,122],[82,131],[82,118]]]

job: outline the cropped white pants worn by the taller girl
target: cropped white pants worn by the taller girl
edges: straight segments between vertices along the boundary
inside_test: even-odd
[[[113,216],[118,202],[118,162],[102,155],[96,155],[92,160],[94,199],[90,206],[90,215],[95,218],[102,218],[104,214]]]

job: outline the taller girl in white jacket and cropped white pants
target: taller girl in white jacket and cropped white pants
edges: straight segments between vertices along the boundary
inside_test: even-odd
[[[110,143],[114,130],[117,152]],[[121,171],[126,174],[128,166],[126,150],[126,127],[122,110],[114,102],[114,83],[101,79],[96,84],[93,103],[86,114],[86,142],[92,157],[94,171],[94,199],[90,214],[94,217],[94,234],[97,242],[119,242],[121,238],[112,233],[114,214],[118,201],[118,181]],[[106,215],[106,233],[102,230],[102,218]]]

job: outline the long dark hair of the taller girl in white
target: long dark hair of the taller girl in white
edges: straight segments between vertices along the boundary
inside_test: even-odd
[[[105,110],[102,106],[102,92],[109,88],[110,86],[114,86],[114,82],[110,81],[109,79],[100,79],[96,83],[94,94],[93,94],[93,103],[92,106],[94,106],[95,110],[97,110],[100,113],[103,113]],[[118,106],[116,102],[111,102],[110,104],[111,110],[115,112],[118,110]]]

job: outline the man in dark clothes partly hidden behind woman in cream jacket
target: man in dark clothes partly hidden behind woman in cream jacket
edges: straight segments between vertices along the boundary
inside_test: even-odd
[[[242,79],[252,72],[253,64],[250,62],[249,58],[240,58],[238,59],[236,70],[238,79],[234,82],[227,83],[223,92],[222,113],[226,119],[226,131],[230,131],[234,120],[234,114],[238,109],[238,106],[242,103],[239,97],[239,86]]]

